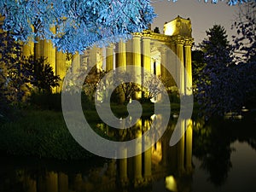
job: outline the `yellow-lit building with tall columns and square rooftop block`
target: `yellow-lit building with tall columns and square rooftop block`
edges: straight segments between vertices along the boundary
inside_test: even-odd
[[[75,60],[73,73],[79,73],[79,69],[89,63],[106,72],[128,65],[144,67],[162,79],[172,79],[170,85],[176,83],[181,94],[190,95],[192,43],[191,21],[177,16],[176,19],[166,22],[162,34],[151,30],[137,32],[128,41],[121,40],[118,44],[110,44],[106,48],[86,49],[83,55],[76,54],[68,58],[67,54],[57,51],[47,40],[23,45],[23,55],[34,55],[36,58],[44,56],[53,67],[55,75],[59,75],[61,79],[64,79],[72,60]],[[177,65],[177,62],[181,65]],[[171,67],[172,74],[168,73],[166,67]],[[141,74],[140,71],[135,73],[138,76]],[[174,83],[173,79],[176,79]],[[61,91],[61,88],[57,91]]]

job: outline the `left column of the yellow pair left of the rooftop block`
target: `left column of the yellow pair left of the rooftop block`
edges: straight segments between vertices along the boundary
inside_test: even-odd
[[[140,33],[136,33],[133,35],[133,41],[132,41],[132,48],[133,48],[133,65],[135,66],[135,72],[134,72],[134,79],[137,84],[142,84],[142,72],[141,72],[141,36]],[[136,98],[141,98],[142,93],[137,92]]]

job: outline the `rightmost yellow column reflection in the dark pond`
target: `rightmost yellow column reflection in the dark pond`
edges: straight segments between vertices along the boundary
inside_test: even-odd
[[[193,137],[193,121],[186,119],[186,170],[192,171],[192,137]]]

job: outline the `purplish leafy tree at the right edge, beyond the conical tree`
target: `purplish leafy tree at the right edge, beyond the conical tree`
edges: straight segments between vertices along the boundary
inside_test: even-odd
[[[256,2],[241,6],[233,27],[236,63],[241,76],[240,88],[245,95],[244,104],[249,108],[256,106]]]

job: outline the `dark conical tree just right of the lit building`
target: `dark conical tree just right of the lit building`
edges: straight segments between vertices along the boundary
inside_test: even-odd
[[[230,67],[233,56],[224,27],[214,25],[209,29],[201,49],[206,66],[199,77],[197,97],[205,115],[224,115],[241,108],[240,77],[236,67]]]

